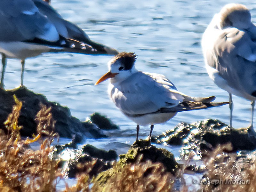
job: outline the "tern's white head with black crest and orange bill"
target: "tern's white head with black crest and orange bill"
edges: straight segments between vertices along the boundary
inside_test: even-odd
[[[134,63],[137,55],[133,52],[121,52],[118,53],[108,62],[108,73],[103,75],[95,85],[111,78],[111,83],[118,83],[124,81],[126,78],[137,72]]]

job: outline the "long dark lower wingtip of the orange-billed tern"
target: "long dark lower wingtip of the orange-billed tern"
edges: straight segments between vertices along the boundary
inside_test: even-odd
[[[205,98],[206,99],[206,98]],[[207,101],[207,100],[206,100]],[[190,110],[197,110],[197,109],[207,109],[212,107],[219,107],[222,105],[229,104],[229,102],[196,102],[196,101],[183,101],[179,105],[172,107],[172,108],[162,108],[161,113],[174,113],[180,111],[190,111]]]

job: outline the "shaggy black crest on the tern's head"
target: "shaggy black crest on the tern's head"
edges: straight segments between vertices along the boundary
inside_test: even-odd
[[[130,70],[137,59],[136,57],[137,55],[133,52],[121,52],[115,56],[115,60],[113,62],[118,60],[124,67],[123,70]]]

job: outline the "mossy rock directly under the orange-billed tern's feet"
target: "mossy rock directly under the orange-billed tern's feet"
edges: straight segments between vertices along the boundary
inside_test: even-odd
[[[104,188],[108,179],[116,175],[122,167],[127,164],[146,163],[148,161],[162,164],[166,172],[170,172],[172,175],[176,175],[180,169],[180,165],[175,161],[171,152],[166,149],[156,148],[149,141],[139,140],[130,147],[126,154],[120,155],[120,160],[114,168],[99,173],[93,182],[97,183],[97,186],[100,186],[100,188]]]

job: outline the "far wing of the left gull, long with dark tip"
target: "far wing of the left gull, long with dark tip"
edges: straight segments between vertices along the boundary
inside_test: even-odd
[[[92,41],[81,28],[67,20],[64,20],[60,14],[47,2],[43,0],[32,1],[39,9],[39,12],[44,14],[54,24],[61,36],[89,44],[92,46],[92,48],[98,52],[101,52],[102,54],[116,55],[118,53],[111,47]]]

